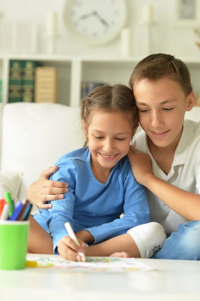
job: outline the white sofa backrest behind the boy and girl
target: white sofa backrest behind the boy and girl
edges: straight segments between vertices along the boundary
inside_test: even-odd
[[[18,199],[42,170],[83,145],[80,109],[61,104],[0,104],[0,170],[23,173]],[[200,120],[200,107],[185,118]],[[0,196],[1,198],[2,196]]]

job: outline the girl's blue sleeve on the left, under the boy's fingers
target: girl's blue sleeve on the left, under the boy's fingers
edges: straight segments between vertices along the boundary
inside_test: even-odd
[[[54,253],[58,254],[58,242],[63,236],[68,235],[65,228],[65,223],[70,222],[73,228],[73,212],[74,212],[74,189],[77,169],[74,162],[70,158],[61,158],[57,162],[59,166],[58,171],[51,176],[50,180],[68,183],[69,192],[64,194],[64,199],[52,202],[52,208],[48,209],[49,217],[47,219],[47,226],[50,235],[53,238]]]

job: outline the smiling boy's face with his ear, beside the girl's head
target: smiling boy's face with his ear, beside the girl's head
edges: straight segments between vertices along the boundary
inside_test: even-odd
[[[182,132],[184,114],[193,106],[194,95],[185,96],[176,81],[163,77],[134,84],[140,125],[158,147],[176,147]]]

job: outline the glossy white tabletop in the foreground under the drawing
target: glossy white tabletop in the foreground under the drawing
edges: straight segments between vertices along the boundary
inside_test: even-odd
[[[36,256],[49,255],[33,254]],[[200,300],[199,261],[138,260],[155,270],[115,274],[74,273],[50,268],[0,270],[0,300]]]

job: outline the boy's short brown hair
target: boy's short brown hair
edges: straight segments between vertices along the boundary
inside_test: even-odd
[[[134,84],[142,79],[155,81],[162,77],[168,77],[179,83],[185,95],[191,93],[190,73],[185,63],[163,53],[151,54],[141,60],[130,76],[129,85],[133,90]]]

